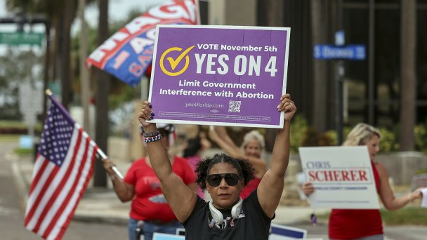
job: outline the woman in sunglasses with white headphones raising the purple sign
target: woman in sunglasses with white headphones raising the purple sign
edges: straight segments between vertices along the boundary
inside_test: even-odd
[[[185,227],[185,239],[268,239],[289,161],[289,128],[296,112],[289,94],[280,98],[277,111],[284,112],[284,128],[277,130],[271,167],[258,188],[244,200],[239,198],[240,192],[253,175],[248,161],[226,154],[200,161],[197,183],[212,197],[206,202],[173,173],[164,146],[155,137],[146,139],[152,167],[162,182],[169,206]],[[147,133],[156,133],[156,125],[146,121],[151,112],[150,102],[143,102],[138,119]]]

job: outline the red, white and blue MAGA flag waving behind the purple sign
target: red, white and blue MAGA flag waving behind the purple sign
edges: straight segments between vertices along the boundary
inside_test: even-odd
[[[140,82],[152,62],[158,24],[199,24],[196,0],[173,0],[151,8],[112,34],[86,59],[131,86]]]

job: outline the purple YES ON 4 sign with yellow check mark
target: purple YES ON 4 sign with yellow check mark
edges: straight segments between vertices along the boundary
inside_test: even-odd
[[[290,29],[157,25],[153,122],[283,128]]]

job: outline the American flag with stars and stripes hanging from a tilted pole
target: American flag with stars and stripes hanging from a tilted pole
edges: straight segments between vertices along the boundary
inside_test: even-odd
[[[61,239],[93,173],[98,146],[53,96],[34,164],[25,227]]]

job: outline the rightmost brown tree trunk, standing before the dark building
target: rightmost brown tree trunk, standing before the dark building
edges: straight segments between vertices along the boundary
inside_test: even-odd
[[[414,149],[416,1],[402,0],[400,25],[400,151]]]

